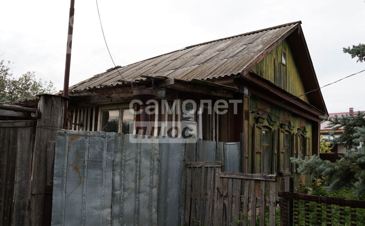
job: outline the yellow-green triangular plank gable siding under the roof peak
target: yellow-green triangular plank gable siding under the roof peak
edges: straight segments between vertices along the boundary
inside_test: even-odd
[[[287,53],[287,65],[281,63],[283,50]],[[270,51],[252,71],[295,96],[306,93],[293,52],[286,39]],[[307,95],[301,96],[300,99],[310,103]]]

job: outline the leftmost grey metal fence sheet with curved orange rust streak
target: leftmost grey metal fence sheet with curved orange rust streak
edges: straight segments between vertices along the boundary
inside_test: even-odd
[[[114,136],[57,131],[51,225],[111,225]]]

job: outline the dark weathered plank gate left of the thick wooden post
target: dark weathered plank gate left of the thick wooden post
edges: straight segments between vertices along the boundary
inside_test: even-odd
[[[32,140],[32,121],[0,121],[0,226],[28,225]]]

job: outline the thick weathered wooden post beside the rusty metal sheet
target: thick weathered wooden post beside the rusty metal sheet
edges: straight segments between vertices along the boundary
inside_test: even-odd
[[[50,148],[54,148],[51,145],[53,142],[49,141],[55,141],[57,130],[62,129],[64,98],[48,94],[39,96],[38,110],[41,112],[41,117],[37,119],[34,143],[30,198],[31,226],[45,226],[51,223],[53,180],[50,183],[47,178],[53,179],[53,171],[47,171],[47,168],[51,168],[52,163],[49,161],[53,161],[54,158],[47,157],[47,149],[48,153],[54,153],[50,151]]]

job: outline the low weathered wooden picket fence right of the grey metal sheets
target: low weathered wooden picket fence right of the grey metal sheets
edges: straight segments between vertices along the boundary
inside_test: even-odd
[[[275,225],[276,175],[221,171],[221,162],[187,162],[185,225],[255,225],[257,208],[260,226]]]

